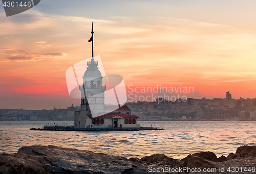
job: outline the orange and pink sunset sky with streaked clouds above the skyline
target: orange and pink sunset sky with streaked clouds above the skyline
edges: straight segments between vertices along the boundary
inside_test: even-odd
[[[41,0],[0,3],[0,109],[67,108],[66,70],[100,55],[126,86],[194,87],[194,98],[256,97],[255,1]],[[86,70],[86,67],[85,69]],[[81,77],[80,77],[81,78]]]

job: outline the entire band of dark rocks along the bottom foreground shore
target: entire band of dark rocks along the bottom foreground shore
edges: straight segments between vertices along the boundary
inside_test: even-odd
[[[154,154],[139,158],[124,158],[91,151],[78,151],[57,146],[24,146],[14,154],[0,154],[0,173],[172,173],[152,172],[165,168],[216,168],[216,172],[194,173],[256,173],[240,171],[240,167],[256,167],[256,146],[241,146],[236,154],[227,157],[212,152],[188,155],[184,159],[173,159],[164,154]],[[228,167],[238,167],[239,171],[229,172]],[[225,171],[219,171],[225,168]],[[151,169],[151,170],[150,170]],[[175,171],[173,173],[188,173]],[[193,173],[193,172],[190,172]]]

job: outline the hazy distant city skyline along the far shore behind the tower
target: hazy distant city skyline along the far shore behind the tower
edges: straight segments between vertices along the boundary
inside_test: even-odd
[[[227,95],[231,94],[227,91]],[[125,103],[124,103],[125,104]],[[29,109],[0,109],[0,121],[24,121],[24,120],[76,120],[74,125],[79,125],[79,116],[85,109],[84,101],[80,106],[73,104],[68,108],[29,110]],[[105,105],[104,110],[113,111],[116,106]],[[118,107],[117,107],[118,108]],[[125,104],[121,107],[122,114],[130,110],[130,115],[139,116],[139,120],[255,120],[256,119],[256,98],[212,98],[201,99],[187,98],[184,100],[167,101],[163,98],[156,98],[156,101],[137,101]],[[125,109],[126,108],[126,109]],[[74,112],[75,111],[75,112]],[[91,115],[91,114],[89,114]],[[81,121],[81,120],[80,120]],[[88,122],[88,121],[87,121]],[[92,121],[89,121],[92,122]]]

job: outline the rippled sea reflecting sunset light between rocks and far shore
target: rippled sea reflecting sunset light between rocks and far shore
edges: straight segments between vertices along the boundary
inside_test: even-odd
[[[27,145],[57,145],[127,158],[156,153],[182,159],[211,151],[217,157],[236,152],[242,145],[255,145],[256,121],[143,121],[144,127],[163,131],[55,132],[30,131],[49,121],[0,122],[0,153],[15,153]],[[50,122],[53,124],[53,122]],[[59,121],[73,125],[73,121]],[[142,125],[142,121],[139,123]]]

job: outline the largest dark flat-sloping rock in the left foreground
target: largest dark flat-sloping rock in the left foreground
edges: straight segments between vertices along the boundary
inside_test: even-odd
[[[0,173],[148,173],[127,158],[56,146],[26,146],[0,154]]]

